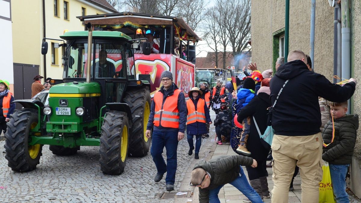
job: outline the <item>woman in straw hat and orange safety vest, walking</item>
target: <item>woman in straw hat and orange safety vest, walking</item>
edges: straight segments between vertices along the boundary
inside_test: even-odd
[[[196,136],[196,148],[194,158],[199,159],[199,150],[202,144],[202,134],[207,133],[206,123],[212,124],[209,109],[204,99],[201,99],[202,91],[198,87],[193,87],[188,92],[190,99],[187,100],[187,141],[189,144],[188,155],[193,154],[193,137]]]

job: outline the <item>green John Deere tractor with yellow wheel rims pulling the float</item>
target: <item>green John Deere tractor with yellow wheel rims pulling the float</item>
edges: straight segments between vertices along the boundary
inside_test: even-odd
[[[121,32],[92,31],[90,23],[87,27],[60,36],[66,40],[60,45],[66,48],[64,83],[50,88],[49,104],[14,101],[24,108],[11,115],[5,133],[5,158],[12,170],[34,170],[44,144],[60,156],[74,155],[80,146],[100,146],[105,174],[121,174],[128,155],[147,155],[150,85],[130,73],[135,43]],[[143,53],[150,54],[148,42]]]

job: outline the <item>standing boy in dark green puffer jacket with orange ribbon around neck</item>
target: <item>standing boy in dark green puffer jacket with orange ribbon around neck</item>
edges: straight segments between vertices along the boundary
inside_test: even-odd
[[[332,102],[330,105],[333,117],[322,131],[322,159],[329,162],[332,189],[336,202],[349,202],[346,192],[346,174],[353,155],[358,129],[358,115],[346,115],[347,101]],[[334,134],[333,134],[334,130]],[[333,141],[332,141],[332,137]]]

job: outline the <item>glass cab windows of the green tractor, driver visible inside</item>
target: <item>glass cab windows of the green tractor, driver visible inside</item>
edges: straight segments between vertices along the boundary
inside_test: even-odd
[[[88,44],[86,42],[73,42],[68,46],[64,77],[86,77],[87,50]],[[95,40],[95,46],[92,45],[92,78],[126,78],[127,72],[126,68],[123,68],[123,64],[127,65],[127,60],[124,53],[125,46],[123,43],[115,44],[107,40]]]

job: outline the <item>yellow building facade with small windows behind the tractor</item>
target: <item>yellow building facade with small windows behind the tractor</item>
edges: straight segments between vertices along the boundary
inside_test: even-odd
[[[106,0],[13,0],[11,3],[14,86],[16,81],[21,86],[22,75],[24,91],[31,91],[32,78],[37,74],[62,79],[64,48],[55,47],[56,43],[63,42],[47,39],[48,53],[43,56],[41,45],[44,37],[60,40],[64,30],[84,30],[77,16],[117,12]],[[21,87],[18,89],[20,91]],[[27,95],[24,94],[23,98],[30,99]]]

